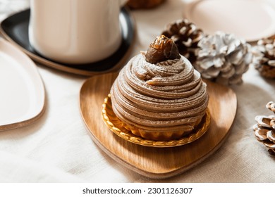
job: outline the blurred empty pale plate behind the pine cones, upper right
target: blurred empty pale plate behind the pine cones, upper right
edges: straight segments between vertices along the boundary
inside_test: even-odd
[[[271,0],[185,0],[183,7],[183,17],[207,34],[223,31],[247,42],[275,34]]]

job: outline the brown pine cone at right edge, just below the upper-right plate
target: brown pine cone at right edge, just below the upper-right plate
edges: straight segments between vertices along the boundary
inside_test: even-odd
[[[253,49],[255,68],[263,77],[275,78],[275,39],[269,37],[260,39]]]

